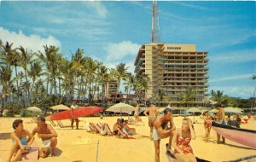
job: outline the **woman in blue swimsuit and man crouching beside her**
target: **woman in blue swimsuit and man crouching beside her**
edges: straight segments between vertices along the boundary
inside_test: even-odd
[[[14,132],[11,133],[13,145],[7,161],[20,160],[22,153],[27,153],[31,149],[32,142],[35,140],[35,134],[38,134],[38,138],[42,140],[39,157],[47,157],[50,151],[51,156],[55,156],[58,134],[49,124],[45,123],[44,117],[38,117],[37,126],[32,132],[24,129],[23,120],[21,119],[15,119],[13,128]]]

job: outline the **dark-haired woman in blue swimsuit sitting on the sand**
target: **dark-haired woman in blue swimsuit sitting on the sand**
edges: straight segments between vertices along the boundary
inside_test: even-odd
[[[20,160],[21,154],[28,152],[32,142],[35,139],[35,137],[32,136],[28,130],[23,128],[23,121],[21,119],[15,119],[13,128],[15,129],[15,131],[11,133],[13,145],[7,161]],[[28,136],[28,138],[26,136]]]

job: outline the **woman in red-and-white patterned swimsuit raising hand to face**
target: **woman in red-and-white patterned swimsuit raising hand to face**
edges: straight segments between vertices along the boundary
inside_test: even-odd
[[[196,162],[189,142],[195,140],[195,130],[190,119],[183,119],[182,128],[177,129],[172,138],[172,147],[177,161]]]

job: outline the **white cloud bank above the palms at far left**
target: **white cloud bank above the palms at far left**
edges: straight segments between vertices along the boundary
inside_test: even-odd
[[[3,43],[9,42],[14,43],[13,47],[24,47],[27,49],[32,49],[32,51],[44,50],[43,45],[55,45],[61,48],[61,42],[49,35],[48,38],[42,38],[39,35],[25,35],[22,31],[11,32],[3,27],[0,27],[0,39]]]

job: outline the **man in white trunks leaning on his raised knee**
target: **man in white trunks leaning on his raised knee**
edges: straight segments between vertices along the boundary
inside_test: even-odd
[[[166,127],[167,124],[170,124],[170,127]],[[160,162],[160,139],[170,136],[169,144],[167,146],[167,151],[170,151],[172,147],[172,136],[174,135],[175,129],[176,127],[172,119],[172,109],[166,108],[164,110],[164,115],[157,118],[154,122],[153,139],[155,162]]]

